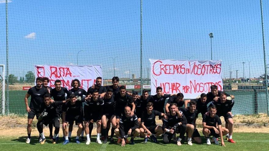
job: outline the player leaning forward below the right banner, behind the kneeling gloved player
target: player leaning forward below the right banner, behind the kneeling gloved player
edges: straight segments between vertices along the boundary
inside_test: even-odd
[[[165,111],[166,111],[167,115],[170,115],[169,106],[172,103],[176,103],[178,107],[182,107],[184,105],[183,98],[184,98],[184,95],[182,93],[178,93],[177,95],[173,95],[168,99],[168,101],[165,105]]]

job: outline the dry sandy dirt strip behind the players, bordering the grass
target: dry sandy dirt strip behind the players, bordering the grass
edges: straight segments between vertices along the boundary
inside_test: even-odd
[[[224,123],[224,119],[222,118]],[[157,124],[161,124],[162,121],[156,119]],[[37,120],[35,119],[33,125],[36,125]],[[198,117],[196,120],[197,129],[202,130],[201,124],[202,118]],[[264,124],[269,123],[269,117],[266,114],[257,114],[257,115],[236,115],[234,116],[234,123],[247,123],[253,124],[258,123],[258,126],[249,127],[249,126],[234,126],[234,132],[257,132],[257,133],[269,133],[269,126],[264,126]],[[27,136],[26,131],[27,117],[17,117],[17,116],[0,116],[0,137],[8,136]],[[23,125],[23,126],[21,126]],[[77,127],[74,125],[72,136],[76,136]],[[49,135],[49,129],[44,128],[44,133],[46,136]],[[62,136],[62,130],[60,129],[60,137]],[[96,128],[94,128],[93,135],[96,135]],[[32,136],[39,135],[37,128],[32,126]]]

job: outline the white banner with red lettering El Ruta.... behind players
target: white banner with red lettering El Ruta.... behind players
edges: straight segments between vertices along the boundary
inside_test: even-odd
[[[48,86],[55,88],[54,81],[61,80],[62,87],[71,89],[71,82],[74,79],[80,81],[81,87],[88,90],[95,83],[97,77],[102,77],[101,65],[88,66],[53,66],[53,65],[34,65],[35,77],[48,77]]]

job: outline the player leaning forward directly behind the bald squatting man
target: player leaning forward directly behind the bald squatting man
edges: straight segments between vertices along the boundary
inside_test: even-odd
[[[125,115],[125,112],[124,112],[125,106],[130,105],[132,107],[130,114],[131,116],[133,116],[135,112],[135,103],[133,102],[132,97],[126,93],[126,88],[124,85],[120,86],[120,92],[118,92],[115,95],[115,101],[116,101],[115,114],[116,114],[117,128],[119,128],[120,117]],[[120,143],[120,142],[121,142],[121,138],[118,137],[117,143]]]

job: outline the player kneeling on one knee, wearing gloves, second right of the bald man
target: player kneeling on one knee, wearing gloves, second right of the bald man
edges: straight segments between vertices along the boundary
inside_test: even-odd
[[[168,119],[164,119],[163,129],[164,129],[164,144],[170,143],[173,134],[179,133],[179,138],[177,140],[177,145],[181,146],[181,140],[184,138],[186,132],[186,124],[187,120],[184,114],[178,110],[176,103],[171,103],[169,106],[170,115],[168,115]],[[178,117],[178,112],[181,112],[182,118]]]

